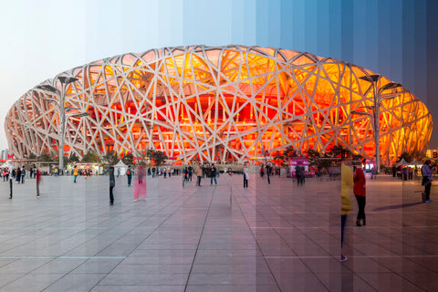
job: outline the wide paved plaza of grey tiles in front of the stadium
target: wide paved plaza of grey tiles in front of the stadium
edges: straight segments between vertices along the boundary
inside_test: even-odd
[[[340,183],[221,175],[217,186],[148,177],[134,202],[126,177],[0,182],[0,291],[438,291],[438,186],[368,181],[340,255]]]

